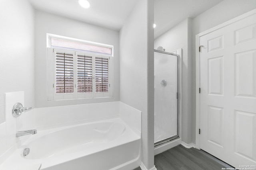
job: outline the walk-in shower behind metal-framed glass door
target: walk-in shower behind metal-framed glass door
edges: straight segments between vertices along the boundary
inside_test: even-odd
[[[178,91],[179,57],[154,50],[154,143],[161,145],[176,139],[179,132]]]

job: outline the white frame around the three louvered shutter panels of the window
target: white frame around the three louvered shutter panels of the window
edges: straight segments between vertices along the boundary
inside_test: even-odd
[[[54,37],[52,34],[47,34],[48,37]],[[66,37],[67,38],[67,37]],[[71,38],[70,38],[71,39]],[[49,40],[49,39],[48,39]],[[68,39],[69,40],[69,39]],[[72,41],[72,39],[71,39]],[[50,40],[47,42],[49,43]],[[85,42],[85,41],[84,41]],[[89,41],[86,41],[89,42]],[[100,43],[97,43],[98,45]],[[49,44],[48,44],[49,45]],[[92,44],[95,45],[95,44]],[[108,45],[104,47],[111,47],[111,56],[110,55],[102,55],[97,53],[88,53],[84,51],[72,51],[68,49],[58,49],[47,47],[47,100],[72,100],[72,99],[92,99],[92,98],[109,98],[113,97],[113,46]],[[74,93],[56,93],[56,53],[69,53],[73,54],[73,70],[74,70]],[[108,92],[96,92],[95,88],[95,79],[93,79],[93,90],[92,92],[84,92],[78,93],[78,75],[77,75],[77,56],[78,55],[86,55],[92,56],[92,70],[93,75],[95,75],[95,57],[108,59]]]

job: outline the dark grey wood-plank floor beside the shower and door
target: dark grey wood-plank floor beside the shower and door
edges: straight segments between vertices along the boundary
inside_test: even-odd
[[[157,170],[221,170],[233,168],[218,158],[195,148],[182,145],[166,150],[155,156]],[[135,170],[141,170],[140,167]]]

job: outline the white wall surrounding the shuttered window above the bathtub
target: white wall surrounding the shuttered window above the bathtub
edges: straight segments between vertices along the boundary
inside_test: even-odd
[[[36,107],[66,106],[119,100],[119,32],[36,11],[35,22]],[[46,33],[114,45],[114,97],[47,101]]]

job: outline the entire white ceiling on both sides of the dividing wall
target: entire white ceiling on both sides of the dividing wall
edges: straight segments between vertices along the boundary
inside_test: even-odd
[[[78,0],[29,0],[35,9],[120,30],[138,0],[89,0],[91,8],[80,7]],[[194,18],[222,0],[154,0],[155,37],[180,21]]]

